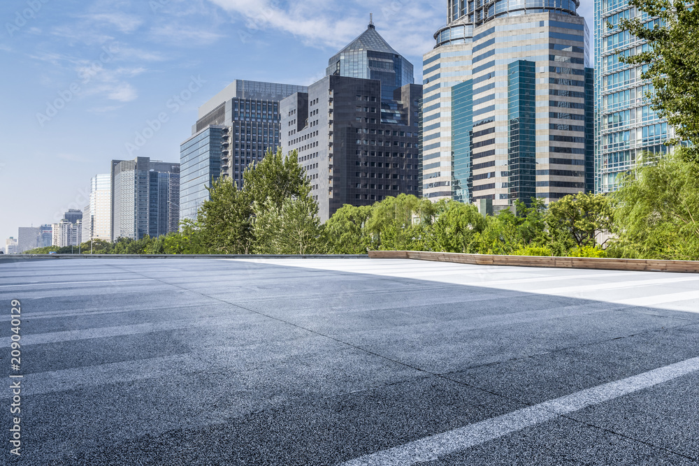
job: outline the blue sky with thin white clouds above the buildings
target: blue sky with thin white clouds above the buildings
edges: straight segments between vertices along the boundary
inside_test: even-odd
[[[591,1],[580,12],[592,29]],[[199,105],[234,79],[321,78],[369,13],[421,82],[444,0],[3,0],[0,247],[84,207],[112,159],[179,161]]]

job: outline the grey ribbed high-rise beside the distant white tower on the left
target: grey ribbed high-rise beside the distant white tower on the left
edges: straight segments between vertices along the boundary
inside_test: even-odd
[[[110,175],[113,241],[140,240],[178,231],[180,217],[180,164],[113,160]]]

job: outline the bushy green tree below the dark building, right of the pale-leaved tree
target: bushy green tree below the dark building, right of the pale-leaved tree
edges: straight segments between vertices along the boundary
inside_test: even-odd
[[[371,237],[366,223],[372,207],[345,204],[324,225],[328,254],[366,254]]]

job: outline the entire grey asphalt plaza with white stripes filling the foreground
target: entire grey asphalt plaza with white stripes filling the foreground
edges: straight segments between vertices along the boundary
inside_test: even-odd
[[[0,314],[0,464],[699,463],[699,275],[31,261]]]

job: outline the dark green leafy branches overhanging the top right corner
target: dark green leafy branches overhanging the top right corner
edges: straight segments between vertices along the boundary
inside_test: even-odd
[[[699,160],[699,9],[679,0],[630,0],[648,14],[621,21],[621,29],[648,42],[646,52],[624,57],[628,64],[647,64],[642,79],[652,81],[653,108],[675,127],[675,143],[689,140],[684,152]],[[651,20],[650,18],[657,18]]]

